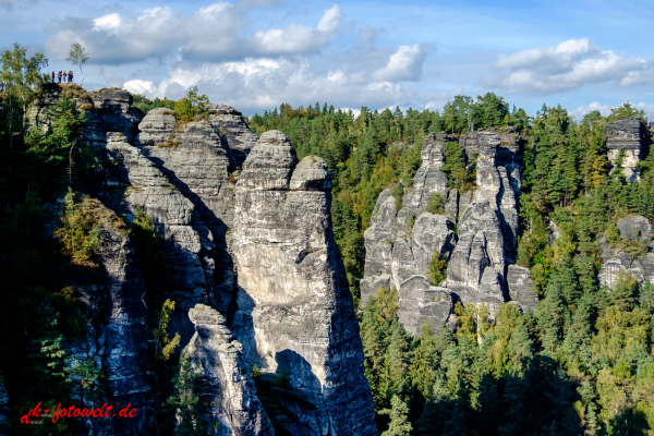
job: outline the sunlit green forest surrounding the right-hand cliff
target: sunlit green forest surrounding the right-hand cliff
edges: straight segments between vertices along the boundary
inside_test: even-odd
[[[332,215],[354,295],[362,233],[379,192],[411,189],[429,132],[513,129],[524,141],[518,264],[531,269],[541,302],[520,313],[506,304],[493,320],[484,307],[456,306],[456,330],[411,338],[397,319],[393,292],[361,302],[366,374],[385,435],[649,434],[654,431],[652,314],[654,287],[623,275],[608,289],[597,274],[602,246],[644,256],[647,241],[620,240],[631,214],[654,219],[652,154],[630,184],[607,159],[607,123],[644,117],[629,104],[609,117],[572,119],[561,107],[535,117],[509,111],[499,97],[457,97],[443,113],[400,110],[361,116],[282,105],[250,120],[280,129],[299,154],[316,154],[335,174]],[[474,167],[457,143],[445,149],[450,184],[464,191]],[[620,157],[619,157],[620,159]],[[470,184],[470,183],[468,183]],[[472,186],[471,189],[474,189]],[[397,193],[400,191],[399,193]],[[396,194],[397,193],[397,194]],[[552,238],[553,228],[560,235]],[[367,303],[367,304],[366,304]],[[409,425],[411,424],[411,425]],[[387,429],[388,428],[388,429]]]

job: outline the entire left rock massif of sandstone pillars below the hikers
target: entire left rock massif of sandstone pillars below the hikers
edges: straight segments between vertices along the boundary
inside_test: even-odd
[[[32,122],[58,98],[55,89],[37,101]],[[274,434],[254,364],[262,379],[290,374],[288,391],[275,398],[291,413],[272,420],[280,428],[376,434],[325,162],[298,162],[286,135],[259,140],[228,106],[209,105],[206,119],[179,123],[168,109],[144,118],[121,90],[74,98],[88,113],[84,137],[104,164],[94,202],[128,221],[145,211],[164,240],[170,268],[159,295],[177,302],[169,330],[180,332],[184,354],[211,386],[203,395],[218,434]],[[73,283],[94,330],[71,353],[104,365],[113,380],[108,402],[138,408],[140,419],[124,420],[116,434],[146,434],[153,399],[143,278],[126,232],[107,233],[100,253],[106,284]]]

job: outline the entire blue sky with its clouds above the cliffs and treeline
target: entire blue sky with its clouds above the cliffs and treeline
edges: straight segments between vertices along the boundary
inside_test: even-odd
[[[642,1],[0,0],[0,49],[50,70],[86,47],[85,87],[253,114],[281,102],[440,109],[495,92],[530,113],[623,101],[654,116],[654,5]],[[77,80],[78,80],[77,75]]]

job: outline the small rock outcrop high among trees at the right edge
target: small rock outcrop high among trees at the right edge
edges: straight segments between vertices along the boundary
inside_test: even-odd
[[[638,164],[644,158],[651,134],[639,118],[623,118],[606,125],[607,157],[616,166],[620,153],[622,174],[630,182],[640,180]]]

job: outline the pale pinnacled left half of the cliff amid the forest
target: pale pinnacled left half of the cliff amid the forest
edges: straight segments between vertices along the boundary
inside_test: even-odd
[[[402,283],[415,275],[425,278],[434,254],[449,259],[455,243],[456,216],[450,211],[446,215],[426,211],[432,195],[448,198],[447,175],[440,170],[443,147],[443,142],[436,141],[434,134],[427,136],[422,148],[422,165],[411,190],[402,198],[401,209],[396,209],[395,197],[389,189],[385,190],[375,205],[371,227],[364,233],[366,263],[360,284],[361,301],[365,304],[379,287],[396,288],[400,291],[401,319],[412,314],[404,307],[429,302],[421,300],[424,290],[416,290],[420,295],[413,296],[410,290],[402,291]],[[402,303],[404,300],[407,304]],[[409,304],[409,300],[415,301]],[[440,325],[440,320],[436,325]]]

